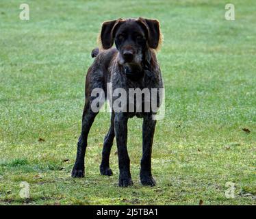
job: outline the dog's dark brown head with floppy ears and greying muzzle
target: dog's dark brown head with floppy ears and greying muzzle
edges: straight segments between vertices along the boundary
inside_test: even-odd
[[[116,44],[119,64],[140,64],[147,49],[157,49],[162,40],[157,20],[145,18],[106,21],[101,27],[103,49]]]

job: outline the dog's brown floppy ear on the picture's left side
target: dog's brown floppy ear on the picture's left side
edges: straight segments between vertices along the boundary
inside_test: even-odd
[[[114,44],[114,30],[120,24],[122,19],[114,21],[105,21],[101,27],[101,44],[103,49],[110,49]]]

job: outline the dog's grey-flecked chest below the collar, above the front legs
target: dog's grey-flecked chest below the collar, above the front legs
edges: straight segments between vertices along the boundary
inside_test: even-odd
[[[143,117],[153,112],[152,104],[159,105],[159,88],[162,88],[161,75],[145,72],[139,80],[131,80],[123,72],[114,72],[110,80],[112,85],[112,101],[118,101],[121,111],[130,117]]]

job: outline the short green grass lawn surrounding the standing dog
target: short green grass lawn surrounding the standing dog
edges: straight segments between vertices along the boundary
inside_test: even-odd
[[[229,1],[0,2],[0,205],[255,205],[256,3]],[[72,179],[84,106],[84,79],[101,23],[157,18],[166,115],[153,145],[154,188],[140,185],[142,120],[129,120],[134,185],[99,174],[110,114],[97,116],[88,138],[86,177]],[[242,129],[249,129],[246,133]],[[41,140],[39,140],[41,138]],[[20,183],[30,186],[21,198]],[[226,198],[227,182],[235,198]]]

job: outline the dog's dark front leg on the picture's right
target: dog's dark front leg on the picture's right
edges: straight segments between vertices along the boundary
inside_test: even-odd
[[[151,153],[153,137],[155,133],[156,120],[152,119],[152,114],[146,115],[143,119],[143,154],[140,162],[140,181],[142,185],[155,185],[155,180],[151,173]]]

